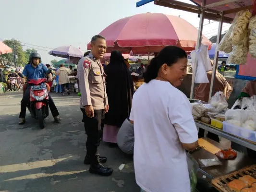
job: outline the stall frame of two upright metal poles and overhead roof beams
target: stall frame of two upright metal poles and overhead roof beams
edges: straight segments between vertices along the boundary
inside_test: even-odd
[[[197,13],[200,15],[200,21],[199,21],[199,27],[198,27],[198,38],[197,38],[197,43],[196,43],[196,48],[197,50],[202,42],[202,31],[203,31],[203,26],[204,26],[204,19],[209,19],[213,21],[218,21],[219,22],[219,27],[218,27],[218,34],[217,34],[217,42],[216,42],[216,49],[215,49],[215,56],[214,56],[214,65],[213,65],[213,72],[212,72],[212,77],[211,77],[211,82],[210,82],[210,92],[209,92],[209,101],[212,97],[212,89],[214,85],[214,77],[216,75],[217,69],[218,69],[218,59],[219,59],[219,50],[218,50],[218,44],[220,42],[221,38],[221,32],[222,32],[222,24],[223,23],[229,23],[231,24],[233,21],[232,17],[228,17],[225,15],[231,14],[231,13],[236,13],[242,10],[247,10],[247,9],[252,9],[252,1],[251,4],[243,6],[240,5],[240,7],[234,8],[234,9],[227,9],[224,11],[218,11],[214,10],[215,7],[218,7],[220,5],[225,5],[228,3],[232,2],[237,2],[241,0],[219,0],[215,3],[211,4],[206,4],[207,0],[202,0],[202,4],[196,4],[194,0],[191,0],[194,2],[196,5],[189,4],[189,3],[184,3],[179,0],[140,0],[139,2],[136,3],[136,7],[140,7],[142,5],[145,5],[149,2],[153,2],[156,5],[164,6],[164,7],[169,7],[177,10],[182,10],[182,11],[187,11],[187,12],[193,12]],[[237,4],[238,6],[238,4]],[[193,69],[193,75],[192,75],[192,85],[191,85],[191,91],[190,91],[190,98],[193,99],[194,97],[194,91],[195,91],[195,76],[196,76],[196,71],[197,71],[197,61],[195,60],[195,65]]]

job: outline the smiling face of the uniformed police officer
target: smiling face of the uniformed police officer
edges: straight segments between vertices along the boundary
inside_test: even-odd
[[[91,52],[96,59],[101,59],[107,50],[107,43],[105,39],[98,38],[95,43],[91,44]]]

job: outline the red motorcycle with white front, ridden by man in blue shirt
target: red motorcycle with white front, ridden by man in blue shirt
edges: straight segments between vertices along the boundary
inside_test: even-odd
[[[32,116],[39,121],[41,129],[45,127],[44,119],[49,116],[48,100],[49,95],[46,86],[46,78],[31,79],[27,83],[30,84],[30,103],[27,108]]]

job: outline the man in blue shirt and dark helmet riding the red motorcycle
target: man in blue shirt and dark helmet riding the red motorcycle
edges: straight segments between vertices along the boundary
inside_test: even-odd
[[[23,76],[25,79],[39,79],[39,78],[45,78],[45,74],[48,75],[49,80],[52,81],[52,75],[50,74],[50,71],[47,69],[47,67],[41,63],[41,56],[37,52],[33,52],[29,55],[29,64],[27,64],[24,67],[23,70]],[[20,112],[20,120],[19,124],[25,123],[25,115],[26,115],[26,107],[29,103],[30,99],[30,93],[29,93],[29,84],[27,85],[27,89],[25,90],[25,93],[23,95],[23,98],[21,100],[21,112]],[[59,117],[58,109],[56,108],[51,96],[49,95],[49,108],[51,110],[52,116],[54,117],[55,122],[58,122],[61,120]]]

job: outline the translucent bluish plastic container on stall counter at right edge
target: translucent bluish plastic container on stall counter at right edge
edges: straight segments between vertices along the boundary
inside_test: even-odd
[[[236,135],[238,137],[256,142],[256,131],[248,130],[243,127],[238,127],[223,121],[223,131]]]

